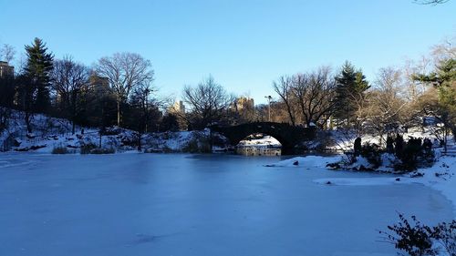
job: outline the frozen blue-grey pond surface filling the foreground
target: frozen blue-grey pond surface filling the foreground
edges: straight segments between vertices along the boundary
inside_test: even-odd
[[[428,187],[318,185],[380,176],[279,159],[1,154],[0,255],[394,255],[396,211],[453,218]]]

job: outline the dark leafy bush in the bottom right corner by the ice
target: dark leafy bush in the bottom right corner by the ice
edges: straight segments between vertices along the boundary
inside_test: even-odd
[[[424,225],[411,216],[411,223],[403,214],[399,214],[399,223],[388,226],[388,231],[379,231],[391,241],[396,249],[406,251],[411,256],[456,255],[456,220],[451,223],[440,222],[435,227]],[[440,245],[435,246],[435,245]]]

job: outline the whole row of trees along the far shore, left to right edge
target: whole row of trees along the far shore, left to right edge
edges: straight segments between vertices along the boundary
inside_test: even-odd
[[[435,133],[442,139],[456,133],[456,48],[451,42],[434,46],[420,62],[379,69],[373,81],[348,61],[336,72],[318,67],[280,76],[273,82],[274,100],[256,107],[239,103],[209,76],[183,88],[185,112],[173,110],[169,97],[157,96],[150,60],[139,54],[116,53],[87,67],[70,56],[56,59],[39,38],[25,50],[16,76],[0,79],[3,127],[7,109],[19,109],[28,132],[34,114],[45,113],[69,119],[73,132],[76,125],[140,132],[201,129],[271,116],[271,121],[294,126],[342,128],[384,139],[423,120],[439,123]],[[3,46],[2,53],[5,60],[14,58],[11,46]]]

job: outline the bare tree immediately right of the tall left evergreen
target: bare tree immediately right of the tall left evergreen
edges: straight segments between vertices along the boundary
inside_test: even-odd
[[[88,67],[79,64],[70,56],[54,62],[51,80],[57,93],[57,103],[66,113],[72,123],[72,133],[75,133],[75,121],[78,117],[78,99],[80,92],[88,87]]]

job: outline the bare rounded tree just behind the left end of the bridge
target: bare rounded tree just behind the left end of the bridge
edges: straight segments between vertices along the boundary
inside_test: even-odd
[[[183,100],[191,108],[189,116],[186,117],[189,126],[205,128],[223,118],[223,113],[233,102],[233,97],[210,76],[196,87],[185,86]]]

